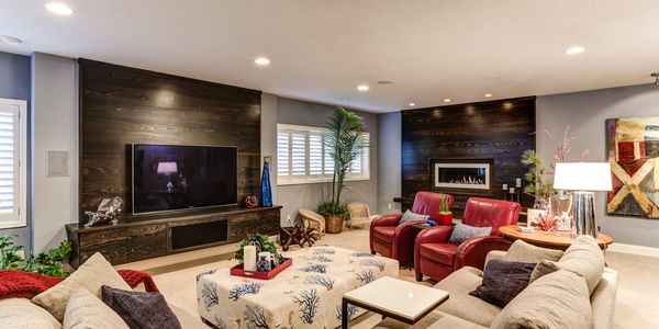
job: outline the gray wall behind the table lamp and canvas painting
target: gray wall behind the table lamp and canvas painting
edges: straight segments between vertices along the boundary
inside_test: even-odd
[[[605,161],[606,144],[604,121],[612,117],[659,115],[659,87],[633,86],[585,92],[538,97],[536,120],[538,131],[548,129],[561,135],[567,125],[579,139],[574,152],[588,148],[592,154],[587,161]],[[554,155],[554,144],[538,135],[537,150],[545,157]],[[606,216],[604,192],[596,193],[597,219],[602,231],[616,242],[659,247],[659,219]]]

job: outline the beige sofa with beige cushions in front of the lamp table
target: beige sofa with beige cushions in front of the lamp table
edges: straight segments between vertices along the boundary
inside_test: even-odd
[[[530,284],[503,309],[469,295],[483,272],[467,266],[435,285],[449,299],[420,322],[386,319],[376,328],[613,328],[618,275],[605,268],[594,239],[580,237],[558,257],[516,241],[509,252],[490,252],[492,259],[538,263]],[[534,281],[536,275],[541,276]]]

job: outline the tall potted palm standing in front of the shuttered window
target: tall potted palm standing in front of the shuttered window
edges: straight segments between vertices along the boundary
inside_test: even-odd
[[[336,107],[325,127],[327,133],[323,141],[327,155],[334,160],[332,196],[319,204],[316,212],[325,217],[326,232],[337,234],[343,230],[344,218],[349,216],[347,205],[340,201],[340,193],[353,161],[367,143],[364,138],[366,127],[361,117],[344,107]]]

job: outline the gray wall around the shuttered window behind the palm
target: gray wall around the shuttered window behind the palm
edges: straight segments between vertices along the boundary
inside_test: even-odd
[[[272,95],[264,95],[269,98]],[[265,99],[261,99],[265,100]],[[277,121],[268,121],[270,128],[263,128],[261,134],[269,135],[269,138],[276,140],[276,127],[277,123],[282,124],[294,124],[305,126],[323,126],[327,121],[327,117],[334,111],[334,106],[316,104],[311,102],[277,98]],[[271,113],[272,101],[269,103],[261,104],[261,126],[265,125],[266,120],[270,120],[268,113]],[[358,115],[364,117],[366,128],[370,133],[371,148],[370,148],[370,180],[368,181],[356,181],[347,182],[346,190],[343,193],[344,202],[360,201],[366,202],[375,213],[378,209],[378,115],[373,113],[366,113],[356,111]],[[264,137],[261,137],[264,138]],[[276,156],[276,143],[271,146],[261,144],[261,154]],[[277,172],[277,168],[271,168],[271,173]],[[275,178],[276,179],[276,178]],[[298,216],[299,208],[314,209],[315,206],[325,198],[331,189],[328,183],[314,183],[314,184],[297,184],[297,185],[281,185],[277,186],[275,182],[273,190],[277,190],[276,204],[282,205],[281,223],[287,223],[287,216],[291,216],[294,219]]]

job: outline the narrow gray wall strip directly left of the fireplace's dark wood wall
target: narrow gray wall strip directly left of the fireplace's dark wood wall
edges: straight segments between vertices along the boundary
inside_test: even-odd
[[[401,129],[400,112],[378,115],[378,213],[400,213],[401,196]],[[390,208],[391,206],[391,208]]]

